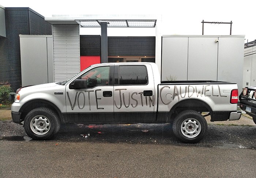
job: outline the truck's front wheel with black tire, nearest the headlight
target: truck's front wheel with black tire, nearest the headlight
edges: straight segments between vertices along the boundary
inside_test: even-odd
[[[60,130],[60,120],[53,110],[39,107],[26,115],[24,129],[31,139],[47,140]]]

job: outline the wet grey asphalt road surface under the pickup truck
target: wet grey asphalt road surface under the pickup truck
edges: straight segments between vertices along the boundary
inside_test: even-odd
[[[209,124],[206,136],[196,144],[177,140],[170,124],[68,124],[48,141],[30,140],[22,126],[11,121],[0,121],[0,128],[0,177],[256,174],[255,125]]]

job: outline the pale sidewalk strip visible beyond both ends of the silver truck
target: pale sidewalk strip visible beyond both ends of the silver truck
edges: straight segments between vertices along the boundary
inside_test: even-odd
[[[0,109],[0,120],[11,120],[11,107]],[[255,125],[255,123],[252,120],[252,117],[250,117],[247,114],[243,114],[240,118],[240,120],[237,121],[217,121],[217,122],[211,122],[211,117],[207,116],[206,121],[208,124],[225,124],[225,125]]]

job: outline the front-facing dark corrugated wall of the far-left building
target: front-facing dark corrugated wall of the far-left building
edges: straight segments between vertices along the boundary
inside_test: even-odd
[[[19,34],[29,34],[27,10],[5,8],[8,57],[1,63],[0,81],[8,81],[13,90],[21,87]],[[2,62],[2,61],[1,61]]]

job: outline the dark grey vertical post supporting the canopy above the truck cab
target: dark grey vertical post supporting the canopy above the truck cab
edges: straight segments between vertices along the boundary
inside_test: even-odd
[[[108,63],[107,22],[101,22],[101,63]]]

